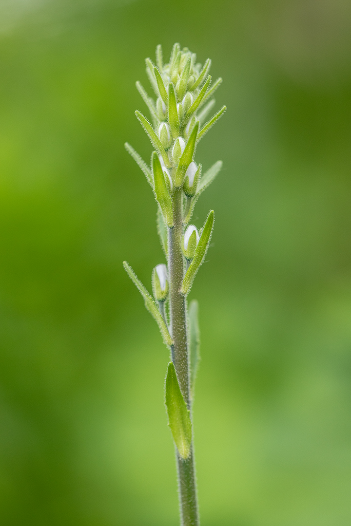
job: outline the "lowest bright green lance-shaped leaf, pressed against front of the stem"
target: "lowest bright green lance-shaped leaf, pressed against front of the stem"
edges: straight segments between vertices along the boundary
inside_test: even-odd
[[[192,422],[184,397],[180,392],[177,373],[173,362],[168,363],[165,389],[168,426],[180,457],[187,459],[192,446]]]

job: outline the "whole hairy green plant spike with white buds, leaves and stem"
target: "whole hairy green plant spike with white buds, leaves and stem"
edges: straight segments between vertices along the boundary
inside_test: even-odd
[[[210,210],[199,231],[189,225],[200,194],[213,182],[222,161],[204,174],[194,157],[198,141],[223,115],[223,106],[206,120],[215,101],[213,94],[222,83],[211,87],[208,75],[211,60],[202,67],[188,48],[174,44],[168,63],[163,62],[162,47],[156,48],[156,65],[146,59],[146,73],[156,95],[149,97],[141,83],[136,87],[151,116],[151,122],[138,110],[135,115],[154,151],[151,166],[134,148],[125,148],[143,171],[157,203],[157,230],[166,265],[152,272],[153,296],[137,278],[126,261],[124,268],[144,298],[154,317],[163,342],[170,351],[165,380],[165,405],[168,426],[175,443],[181,526],[199,526],[195,459],[192,430],[194,382],[199,360],[198,304],[187,307],[187,295],[199,267],[203,264],[214,226]]]

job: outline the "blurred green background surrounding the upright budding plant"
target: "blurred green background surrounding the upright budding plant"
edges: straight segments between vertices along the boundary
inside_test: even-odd
[[[0,522],[176,526],[156,324],[163,262],[125,152],[144,58],[213,59],[228,111],[200,302],[203,526],[351,523],[351,4],[1,0]]]

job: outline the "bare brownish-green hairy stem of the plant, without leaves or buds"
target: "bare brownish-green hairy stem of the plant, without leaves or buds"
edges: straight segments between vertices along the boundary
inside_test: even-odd
[[[168,229],[169,305],[172,338],[174,341],[172,361],[177,372],[180,391],[182,391],[191,417],[186,299],[179,292],[184,278],[184,257],[182,253],[183,210],[182,189],[180,188],[177,188],[173,195],[173,218],[174,227]],[[190,456],[186,460],[180,458],[177,450],[176,457],[181,525],[199,526],[193,446]]]

